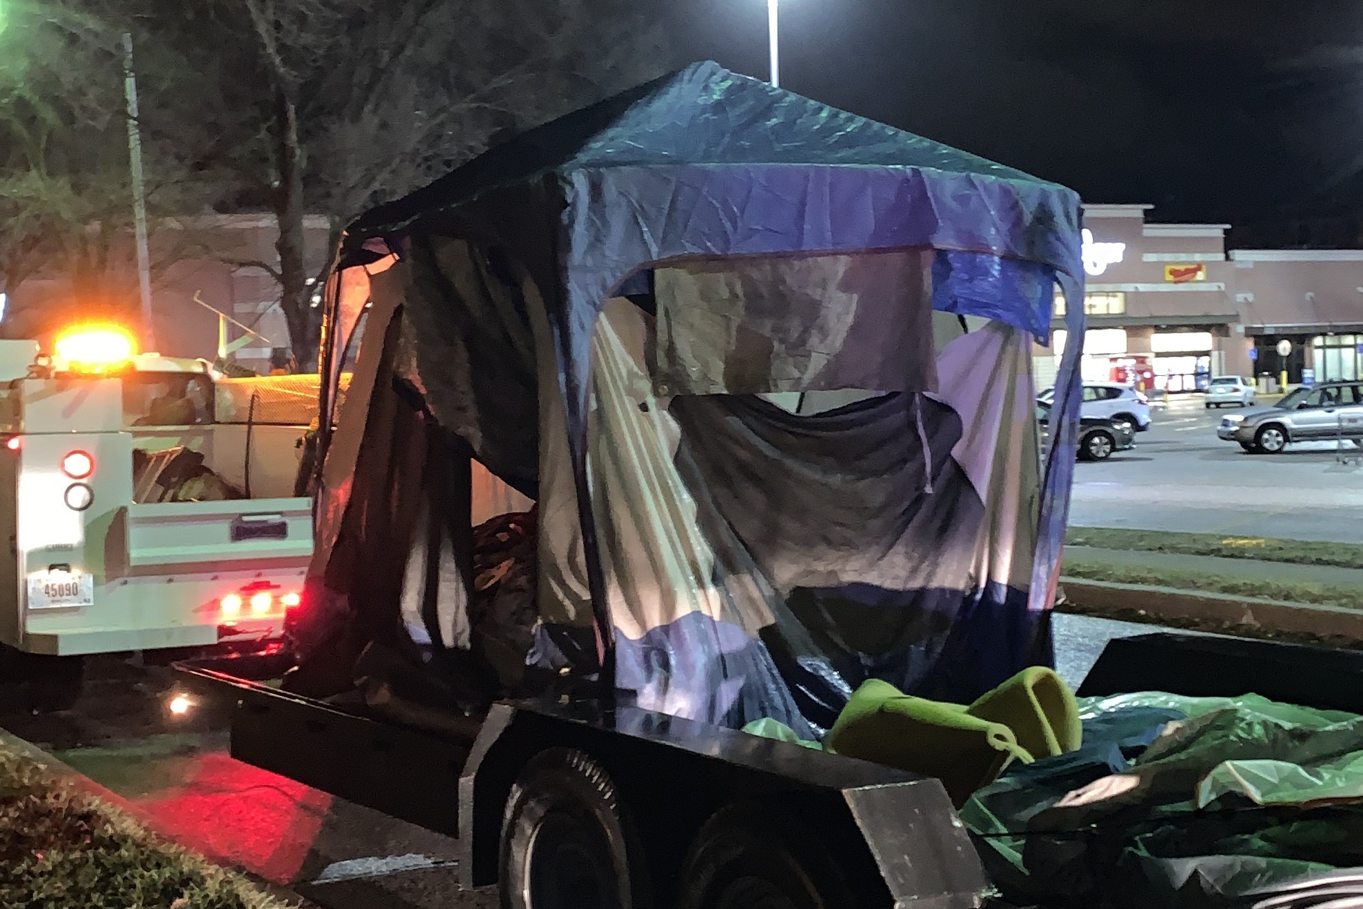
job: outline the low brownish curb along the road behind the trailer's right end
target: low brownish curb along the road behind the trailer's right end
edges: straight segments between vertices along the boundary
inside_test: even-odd
[[[1191,623],[1197,628],[1246,636],[1306,636],[1337,643],[1363,643],[1363,611],[1225,593],[1154,587],[1060,576],[1060,612],[1109,619]]]

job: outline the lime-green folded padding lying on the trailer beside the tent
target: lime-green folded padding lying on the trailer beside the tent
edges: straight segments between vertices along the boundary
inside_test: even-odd
[[[758,720],[744,730],[816,747],[774,720]],[[913,698],[872,679],[852,695],[823,747],[936,777],[961,805],[1010,762],[1074,751],[1081,737],[1074,694],[1054,671],[1033,666],[970,705]]]

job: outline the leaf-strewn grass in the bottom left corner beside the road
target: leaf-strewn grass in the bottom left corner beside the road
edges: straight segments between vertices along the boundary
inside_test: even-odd
[[[0,906],[285,909],[0,745]]]

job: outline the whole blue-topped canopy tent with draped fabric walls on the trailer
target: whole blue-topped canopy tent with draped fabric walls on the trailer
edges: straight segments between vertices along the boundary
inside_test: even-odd
[[[369,211],[288,684],[337,694],[379,645],[470,710],[596,677],[818,736],[868,677],[970,699],[1047,662],[1056,285],[1082,337],[1074,192],[713,63]]]

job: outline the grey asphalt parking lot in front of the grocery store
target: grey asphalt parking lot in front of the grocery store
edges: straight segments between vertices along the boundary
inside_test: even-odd
[[[1334,443],[1246,454],[1216,437],[1223,413],[1201,397],[1154,412],[1137,447],[1074,473],[1070,523],[1363,542],[1363,466]]]

